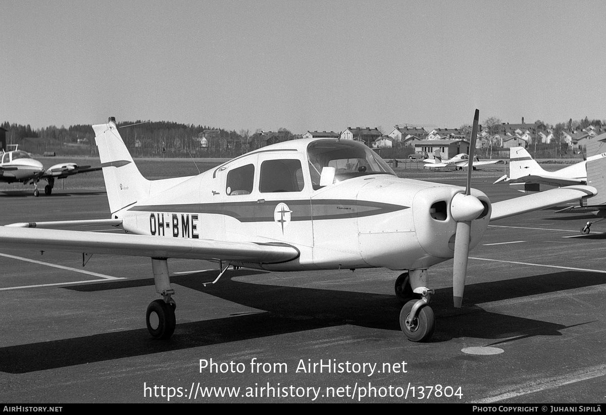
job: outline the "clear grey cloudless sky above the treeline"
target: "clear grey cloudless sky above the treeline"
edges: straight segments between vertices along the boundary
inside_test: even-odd
[[[0,0],[0,122],[606,119],[603,1]]]

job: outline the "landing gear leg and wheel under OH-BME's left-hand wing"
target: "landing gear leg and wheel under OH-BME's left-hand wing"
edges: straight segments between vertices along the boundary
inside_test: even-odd
[[[156,291],[162,295],[163,299],[152,301],[148,305],[147,313],[145,313],[147,330],[155,339],[170,339],[175,333],[177,304],[171,298],[175,294],[175,290],[170,287],[168,262],[166,258],[151,258],[151,268]]]

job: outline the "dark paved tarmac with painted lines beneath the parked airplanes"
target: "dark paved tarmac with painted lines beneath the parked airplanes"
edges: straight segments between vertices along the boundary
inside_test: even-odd
[[[492,181],[474,187],[521,196]],[[108,217],[102,191],[0,203],[0,224]],[[492,222],[461,310],[452,261],[430,268],[425,344],[400,331],[390,270],[238,270],[204,287],[215,265],[169,260],[177,327],[164,342],[145,328],[148,258],[82,267],[78,254],[2,251],[0,402],[606,402],[606,222],[581,236],[590,215],[553,212]]]

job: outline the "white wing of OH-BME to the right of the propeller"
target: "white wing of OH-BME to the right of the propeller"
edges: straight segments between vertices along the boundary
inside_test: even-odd
[[[569,202],[576,202],[581,199],[590,198],[595,194],[598,194],[598,190],[594,187],[576,185],[542,191],[541,193],[528,194],[527,196],[513,198],[507,201],[495,202],[492,204],[490,221],[496,221],[498,219],[503,219],[504,217],[545,209]]]

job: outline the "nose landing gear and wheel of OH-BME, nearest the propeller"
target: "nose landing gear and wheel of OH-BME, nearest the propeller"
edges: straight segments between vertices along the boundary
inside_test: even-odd
[[[408,279],[413,293],[419,294],[421,298],[411,299],[404,304],[400,311],[400,327],[408,340],[426,342],[431,338],[435,327],[435,316],[428,305],[434,291],[425,287],[427,270],[410,270]]]

